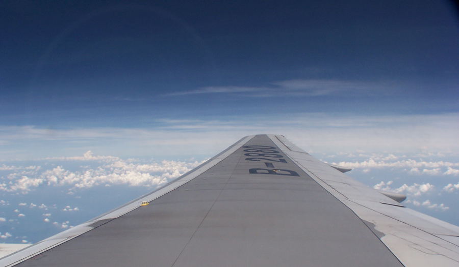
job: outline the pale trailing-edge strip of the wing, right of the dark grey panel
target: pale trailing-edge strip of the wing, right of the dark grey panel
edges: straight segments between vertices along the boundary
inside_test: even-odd
[[[283,136],[271,140],[329,193],[348,206],[406,266],[457,266],[459,227],[403,207],[298,149]]]

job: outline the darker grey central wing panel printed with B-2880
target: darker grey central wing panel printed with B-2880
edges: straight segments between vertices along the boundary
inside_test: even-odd
[[[82,226],[92,230],[17,265],[401,265],[366,222],[268,136],[248,139],[149,205],[139,207],[147,195],[132,202],[136,209],[130,203],[126,213],[99,217]]]

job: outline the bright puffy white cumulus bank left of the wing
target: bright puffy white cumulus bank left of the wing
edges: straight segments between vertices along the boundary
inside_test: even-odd
[[[76,159],[75,159],[76,158]],[[83,168],[81,171],[70,171],[63,166],[45,169],[33,177],[21,176],[12,179],[8,184],[0,184],[0,191],[21,192],[27,194],[39,186],[69,186],[71,189],[90,188],[98,185],[120,185],[157,187],[182,175],[202,162],[167,161],[160,163],[133,163],[132,160],[121,160],[112,156],[94,156],[85,153],[84,159],[103,159],[105,164],[95,168]],[[81,160],[80,157],[66,159]],[[107,159],[110,159],[106,161]],[[71,192],[70,192],[71,193]],[[27,203],[20,203],[25,205]],[[31,203],[30,207],[37,204]],[[40,209],[46,209],[41,204]]]

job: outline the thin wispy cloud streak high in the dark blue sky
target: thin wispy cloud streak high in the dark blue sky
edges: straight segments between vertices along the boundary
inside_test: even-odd
[[[164,96],[184,96],[198,94],[238,94],[246,97],[284,96],[327,96],[342,93],[373,94],[381,88],[392,88],[393,85],[367,82],[330,79],[293,79],[269,83],[268,86],[207,86],[189,91],[165,94]],[[381,92],[382,93],[382,92]]]

